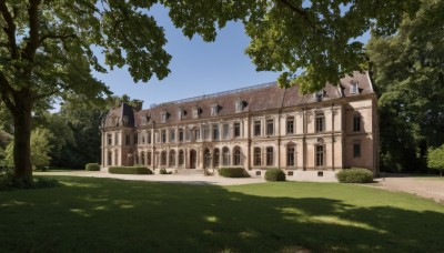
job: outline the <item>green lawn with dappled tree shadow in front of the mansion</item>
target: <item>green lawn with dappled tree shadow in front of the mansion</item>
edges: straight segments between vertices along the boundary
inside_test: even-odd
[[[444,205],[369,186],[58,179],[0,192],[1,252],[444,250]]]

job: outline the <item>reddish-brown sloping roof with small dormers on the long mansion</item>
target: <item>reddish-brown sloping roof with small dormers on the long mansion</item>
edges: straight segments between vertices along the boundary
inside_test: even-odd
[[[353,94],[351,92],[351,85],[352,83],[356,82],[359,83],[360,92]],[[325,85],[322,93],[322,101],[329,101],[343,97],[374,93],[374,91],[367,74],[355,72],[353,77],[345,77],[341,79],[341,84],[339,87],[331,84]],[[107,117],[107,126],[111,126],[108,124],[108,122],[109,118],[112,115],[119,115],[121,119],[122,117],[127,115],[129,118],[127,124],[128,126],[141,125],[143,118],[147,118],[148,123],[161,123],[161,114],[164,112],[168,112],[168,120],[165,123],[179,123],[181,121],[193,119],[192,111],[193,108],[196,107],[201,110],[199,119],[211,119],[215,118],[211,115],[211,107],[214,104],[219,105],[219,114],[216,117],[236,114],[235,101],[238,100],[244,102],[244,112],[259,112],[314,103],[316,102],[316,95],[313,93],[301,95],[299,93],[297,85],[289,89],[280,89],[278,88],[276,83],[266,83],[228,92],[167,102],[139,112],[135,112],[135,110],[130,105],[123,103],[122,107],[110,111],[109,115]],[[182,119],[179,119],[178,115],[180,108],[185,112]]]

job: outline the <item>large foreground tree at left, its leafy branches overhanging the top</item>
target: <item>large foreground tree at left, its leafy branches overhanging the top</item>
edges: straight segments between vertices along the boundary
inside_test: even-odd
[[[370,27],[394,32],[404,13],[414,13],[417,0],[0,0],[0,97],[14,124],[13,180],[31,180],[30,132],[32,111],[54,98],[72,94],[83,101],[109,93],[91,75],[105,72],[92,48],[99,48],[110,69],[129,65],[134,81],[170,72],[162,28],[148,10],[169,8],[174,24],[188,37],[214,40],[216,29],[242,20],[252,42],[246,50],[258,70],[284,71],[283,85],[299,68],[303,91],[362,70],[362,44],[353,38]],[[304,4],[307,3],[307,4]]]

